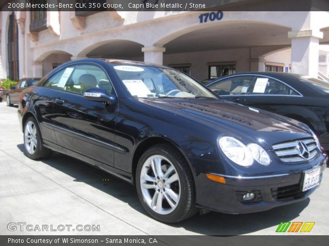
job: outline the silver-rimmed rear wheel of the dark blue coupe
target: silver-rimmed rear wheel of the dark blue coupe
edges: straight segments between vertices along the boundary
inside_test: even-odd
[[[33,160],[46,158],[51,154],[51,150],[42,144],[40,129],[34,117],[29,117],[25,122],[24,147],[26,155]]]

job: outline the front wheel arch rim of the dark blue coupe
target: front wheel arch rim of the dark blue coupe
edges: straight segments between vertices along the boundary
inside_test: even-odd
[[[184,156],[185,160],[187,161],[187,163],[189,165],[190,171],[193,176],[193,182],[195,185],[195,173],[193,172],[193,168],[191,166],[189,159],[184,154],[184,152],[178,147],[178,145],[176,145],[172,140],[170,140],[164,136],[149,136],[149,137],[143,139],[142,141],[140,141],[140,143],[138,144],[138,146],[134,152],[133,160],[132,160],[132,183],[133,183],[133,185],[135,185],[135,176],[136,176],[138,160],[140,159],[140,157],[142,156],[142,154],[145,151],[147,151],[150,147],[157,145],[157,144],[169,144],[169,145],[173,146],[174,148],[176,148],[179,151],[179,153],[182,156]]]

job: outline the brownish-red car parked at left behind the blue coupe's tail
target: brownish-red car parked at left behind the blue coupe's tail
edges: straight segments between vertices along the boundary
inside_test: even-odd
[[[7,106],[19,104],[21,92],[29,86],[33,86],[40,78],[22,78],[15,86],[11,86],[6,94]]]

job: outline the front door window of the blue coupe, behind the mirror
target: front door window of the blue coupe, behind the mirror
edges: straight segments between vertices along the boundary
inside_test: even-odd
[[[112,84],[106,73],[95,65],[77,65],[66,83],[65,90],[83,94],[90,88],[102,88],[112,94]]]

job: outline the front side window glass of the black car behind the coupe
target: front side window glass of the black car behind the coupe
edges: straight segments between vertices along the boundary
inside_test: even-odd
[[[235,76],[219,81],[209,89],[217,95],[244,95],[247,93],[254,76]]]

